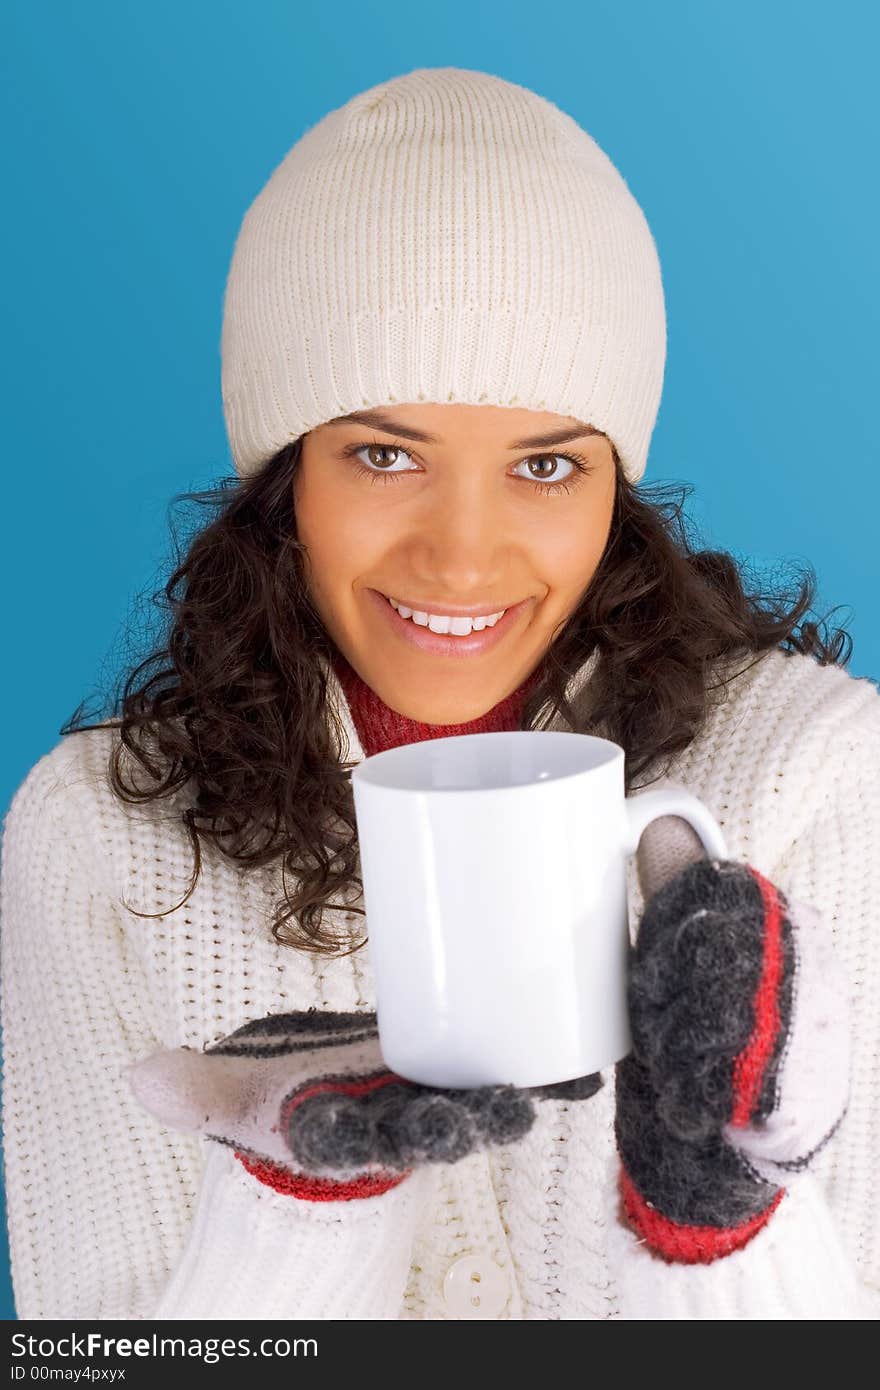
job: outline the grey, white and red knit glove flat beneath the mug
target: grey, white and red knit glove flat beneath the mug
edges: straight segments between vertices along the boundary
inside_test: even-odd
[[[261,1183],[310,1201],[375,1197],[420,1163],[512,1144],[535,1101],[588,1099],[598,1073],[556,1086],[441,1090],[382,1061],[375,1013],[275,1013],[202,1052],[161,1048],[127,1069],[172,1129],[231,1145]]]

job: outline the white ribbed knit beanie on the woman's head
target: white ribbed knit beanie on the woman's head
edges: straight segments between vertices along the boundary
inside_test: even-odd
[[[637,482],[666,361],[660,264],[570,115],[487,72],[417,68],[274,170],[235,242],[221,354],[242,477],[336,416],[424,400],[574,416]]]

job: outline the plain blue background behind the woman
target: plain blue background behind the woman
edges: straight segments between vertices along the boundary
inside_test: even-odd
[[[813,564],[877,678],[879,15],[7,0],[3,808],[150,621],[174,493],[232,473],[221,300],[249,203],[323,114],[416,67],[520,82],[606,150],[666,288],[644,481],[692,484],[705,541],[770,577]]]

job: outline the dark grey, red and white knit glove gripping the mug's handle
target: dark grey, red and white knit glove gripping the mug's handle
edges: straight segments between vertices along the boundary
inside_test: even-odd
[[[620,1194],[656,1254],[708,1264],[758,1234],[837,1130],[847,994],[815,908],[749,865],[708,859],[680,817],[649,831],[633,1051],[616,1066]]]

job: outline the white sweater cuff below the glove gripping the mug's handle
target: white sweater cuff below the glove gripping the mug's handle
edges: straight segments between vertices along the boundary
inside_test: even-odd
[[[861,1283],[810,1173],[792,1182],[744,1248],[709,1265],[669,1264],[626,1225],[621,1211],[609,1247],[624,1319],[873,1320],[880,1315],[880,1293]]]

